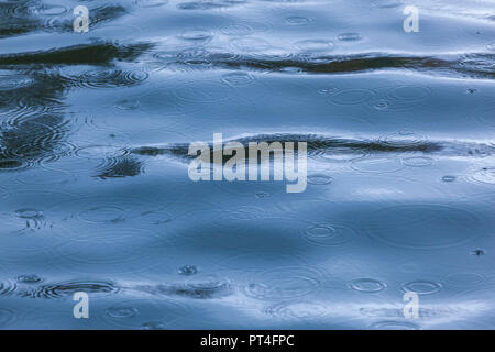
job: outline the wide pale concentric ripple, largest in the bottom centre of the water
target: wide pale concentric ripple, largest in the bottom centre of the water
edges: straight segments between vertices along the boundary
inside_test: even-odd
[[[256,299],[278,300],[309,295],[321,285],[321,273],[311,267],[279,267],[266,271],[244,286]]]

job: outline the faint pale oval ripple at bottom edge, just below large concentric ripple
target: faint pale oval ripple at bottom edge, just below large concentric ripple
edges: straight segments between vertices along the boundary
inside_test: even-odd
[[[321,319],[332,314],[327,305],[314,301],[288,301],[270,306],[264,312],[277,319],[292,322]]]

